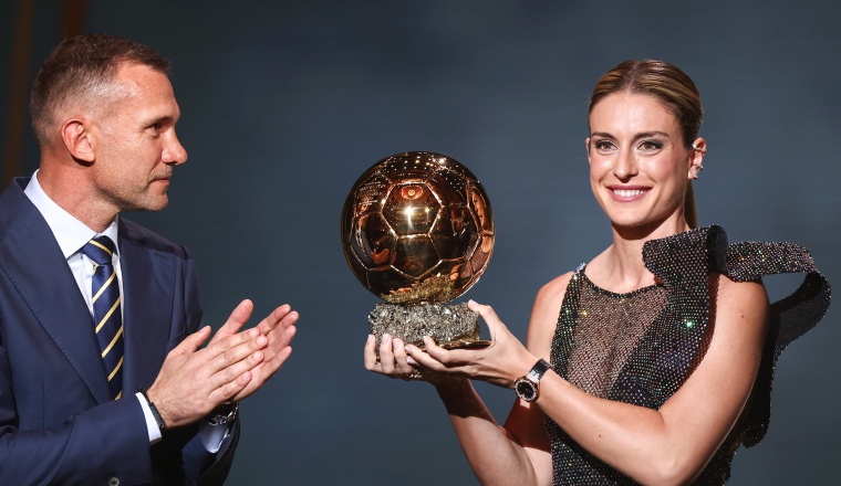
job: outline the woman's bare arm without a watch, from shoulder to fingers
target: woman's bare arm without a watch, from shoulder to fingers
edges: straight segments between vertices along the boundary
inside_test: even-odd
[[[515,351],[502,359],[502,367],[521,361],[520,374],[526,374],[537,361],[534,356],[549,359],[563,292],[570,276],[567,274],[547,284],[539,293],[529,324],[528,349],[523,348],[507,329],[491,329],[490,358],[500,361],[496,351]],[[434,345],[433,345],[434,346]],[[375,342],[368,339],[365,347],[365,367],[394,378],[412,376],[417,362],[406,356],[407,347],[398,339],[383,337],[380,361]],[[411,348],[408,348],[411,349]],[[415,353],[423,353],[415,348]],[[488,356],[486,351],[465,351]],[[548,485],[552,478],[552,459],[549,439],[543,424],[543,412],[534,404],[519,399],[500,427],[473,388],[468,378],[446,372],[434,372],[420,367],[424,381],[435,384],[438,395],[449,414],[459,444],[479,482],[484,485]],[[498,383],[510,388],[511,383]]]

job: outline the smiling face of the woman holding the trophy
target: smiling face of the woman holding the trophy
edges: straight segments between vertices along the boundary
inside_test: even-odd
[[[614,93],[590,113],[590,184],[614,226],[688,229],[683,216],[686,186],[700,165],[685,148],[675,117],[655,97]]]

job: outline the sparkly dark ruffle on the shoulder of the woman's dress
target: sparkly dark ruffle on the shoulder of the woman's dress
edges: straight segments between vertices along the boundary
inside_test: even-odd
[[[691,327],[683,335],[684,341],[699,344],[698,355],[685,355],[685,345],[676,346],[678,361],[687,369],[694,368],[706,349],[709,293],[707,276],[723,273],[737,282],[748,282],[765,276],[786,273],[806,274],[793,294],[770,306],[768,336],[754,385],[754,405],[743,431],[746,446],[765,436],[770,421],[771,384],[773,370],[782,350],[799,338],[827,314],[831,289],[809,252],[796,243],[738,242],[727,243],[720,226],[699,228],[668,237],[652,240],[643,246],[645,266],[661,278],[669,289],[669,310],[678,327]],[[687,335],[693,335],[692,338]],[[694,359],[693,359],[694,358]],[[678,387],[683,380],[678,380]],[[675,390],[661,397],[666,400]]]

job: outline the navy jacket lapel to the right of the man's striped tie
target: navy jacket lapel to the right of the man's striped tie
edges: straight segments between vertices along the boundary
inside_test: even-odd
[[[125,360],[123,394],[149,387],[166,358],[169,340],[175,268],[173,255],[148,249],[120,226],[123,273]]]

